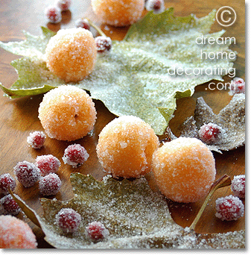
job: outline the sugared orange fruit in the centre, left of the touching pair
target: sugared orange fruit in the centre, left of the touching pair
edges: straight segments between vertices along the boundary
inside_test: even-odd
[[[120,116],[99,134],[98,160],[113,177],[137,178],[150,172],[158,146],[158,137],[150,125],[136,116]]]

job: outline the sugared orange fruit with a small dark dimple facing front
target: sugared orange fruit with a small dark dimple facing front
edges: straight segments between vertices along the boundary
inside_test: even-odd
[[[92,131],[95,104],[86,91],[62,85],[45,93],[39,105],[39,119],[48,137],[77,140]]]

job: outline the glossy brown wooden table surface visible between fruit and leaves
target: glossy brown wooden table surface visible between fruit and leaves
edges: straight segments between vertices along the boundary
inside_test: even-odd
[[[112,28],[109,31],[104,30],[104,25],[98,21],[98,17],[92,12],[90,0],[74,1],[70,11],[63,13],[63,21],[60,25],[52,25],[47,23],[44,16],[45,7],[51,1],[38,0],[5,0],[0,6],[0,40],[2,42],[23,40],[22,31],[28,31],[31,34],[39,35],[40,26],[47,26],[53,31],[58,31],[60,28],[74,28],[76,19],[88,17],[97,25],[103,28],[107,36],[112,40],[121,40],[124,37],[128,28]],[[235,24],[224,28],[226,34],[224,37],[235,37],[236,43],[230,48],[238,51],[238,57],[235,61],[236,76],[244,78],[245,75],[245,5],[244,0],[168,0],[165,1],[165,7],[174,7],[174,14],[177,16],[188,16],[191,13],[197,17],[206,16],[213,9],[218,9],[222,6],[233,7],[237,13]],[[223,29],[217,22],[212,27],[213,31]],[[10,66],[10,61],[16,59],[17,56],[10,54],[3,49],[0,49],[0,81],[5,87],[10,87],[16,81],[17,75],[15,69]],[[225,81],[230,81],[231,78],[225,77]],[[226,104],[229,103],[231,96],[226,90],[206,90],[208,84],[203,84],[196,87],[194,96],[185,99],[177,100],[177,110],[175,111],[174,119],[171,119],[170,127],[175,133],[179,132],[180,125],[186,117],[194,113],[194,107],[197,97],[203,96],[206,103],[218,113]],[[26,139],[31,131],[42,131],[42,126],[38,119],[38,107],[42,101],[42,96],[27,97],[23,99],[8,99],[0,92],[0,175],[6,172],[13,174],[13,167],[22,160],[34,162],[36,156],[42,154],[53,154],[62,161],[62,156],[68,142],[47,139],[45,147],[39,150],[28,147]],[[95,107],[98,112],[98,119],[95,124],[94,134],[92,137],[84,137],[77,140],[76,143],[83,145],[89,152],[89,160],[83,166],[72,169],[70,166],[62,164],[60,167],[60,178],[63,181],[63,187],[60,193],[55,196],[60,200],[71,199],[73,196],[72,188],[69,183],[69,176],[72,172],[80,172],[84,175],[92,174],[96,179],[101,180],[105,175],[95,152],[95,146],[98,141],[98,134],[104,126],[115,118],[112,113],[109,113],[104,104],[100,101],[95,101]],[[213,153],[215,156],[217,177],[227,174],[231,178],[234,175],[244,174],[245,164],[245,147],[223,152],[223,154]],[[150,186],[155,189],[153,176],[148,174]],[[37,184],[31,188],[22,187],[17,182],[15,193],[27,202],[27,204],[42,214],[42,208],[39,205],[39,195]],[[215,199],[220,196],[231,194],[229,187],[217,190],[215,196],[206,207],[203,216],[198,222],[196,231],[201,233],[227,232],[238,231],[245,228],[245,217],[241,217],[238,221],[223,222],[215,217]],[[199,210],[202,202],[191,204],[180,204],[168,201],[171,210],[171,216],[174,221],[183,227],[188,226],[194,219],[194,216]],[[27,220],[28,224],[33,228],[36,234],[39,248],[51,248],[48,243],[43,240],[42,231],[33,223]]]

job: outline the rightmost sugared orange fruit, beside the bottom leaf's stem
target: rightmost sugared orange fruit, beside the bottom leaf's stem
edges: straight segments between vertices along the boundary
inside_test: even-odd
[[[153,174],[163,195],[176,202],[197,202],[215,181],[215,159],[200,140],[179,137],[153,154]]]

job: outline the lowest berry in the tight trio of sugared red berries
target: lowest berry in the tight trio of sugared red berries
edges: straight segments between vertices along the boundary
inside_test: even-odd
[[[62,186],[60,177],[56,173],[50,173],[39,180],[39,192],[42,196],[54,196]]]

